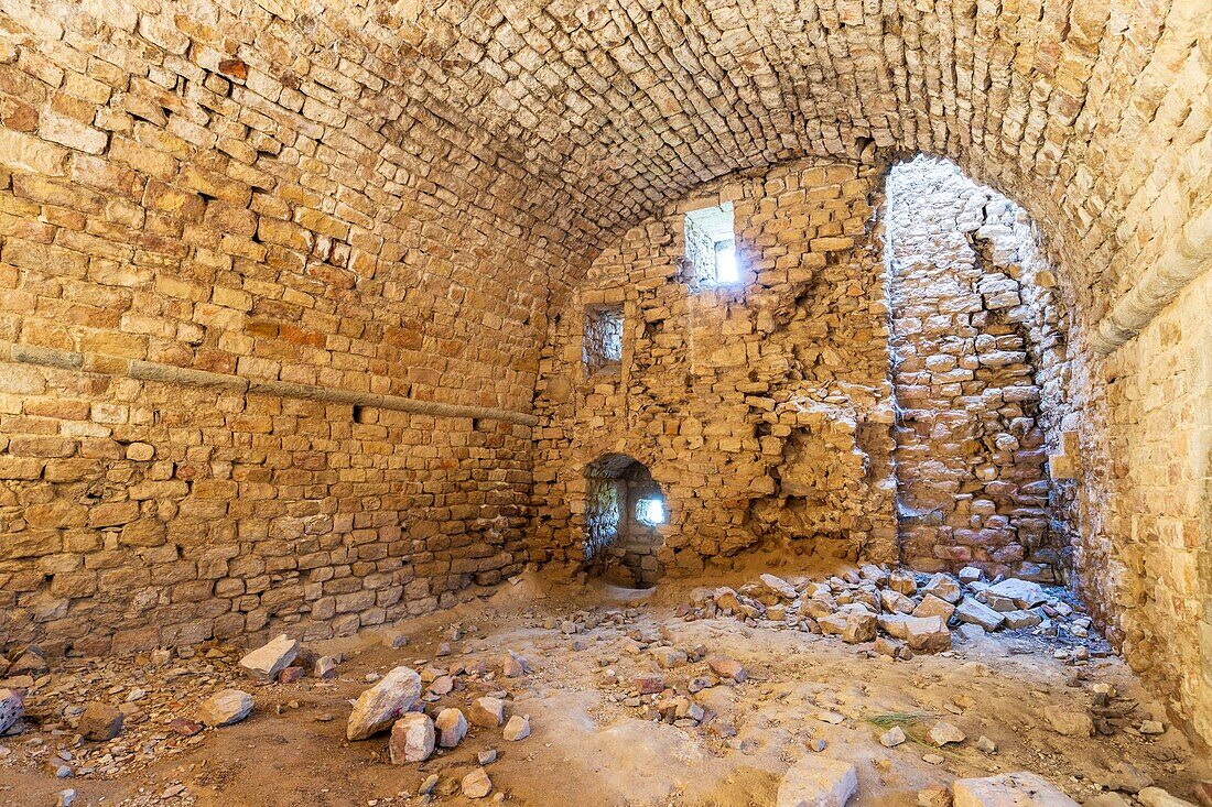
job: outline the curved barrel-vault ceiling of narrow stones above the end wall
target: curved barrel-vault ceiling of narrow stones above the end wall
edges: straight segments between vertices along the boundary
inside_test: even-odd
[[[474,122],[589,241],[722,173],[874,145],[955,159],[1067,257],[1105,263],[1133,237],[1126,214],[1207,138],[1210,15],[1204,0],[371,0],[355,17],[398,42],[415,103]]]

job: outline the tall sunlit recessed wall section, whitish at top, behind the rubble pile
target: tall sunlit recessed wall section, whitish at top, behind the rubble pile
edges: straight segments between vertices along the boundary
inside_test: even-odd
[[[954,164],[890,173],[898,525],[915,568],[1063,578],[1069,531],[1047,469],[1063,402],[1042,389],[1059,315],[1037,287],[1054,281],[1036,239],[1022,208]]]

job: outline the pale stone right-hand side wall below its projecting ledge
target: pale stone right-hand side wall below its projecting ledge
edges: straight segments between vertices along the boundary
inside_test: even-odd
[[[1212,739],[1212,275],[1105,361],[1080,396],[1077,591],[1172,714]]]

